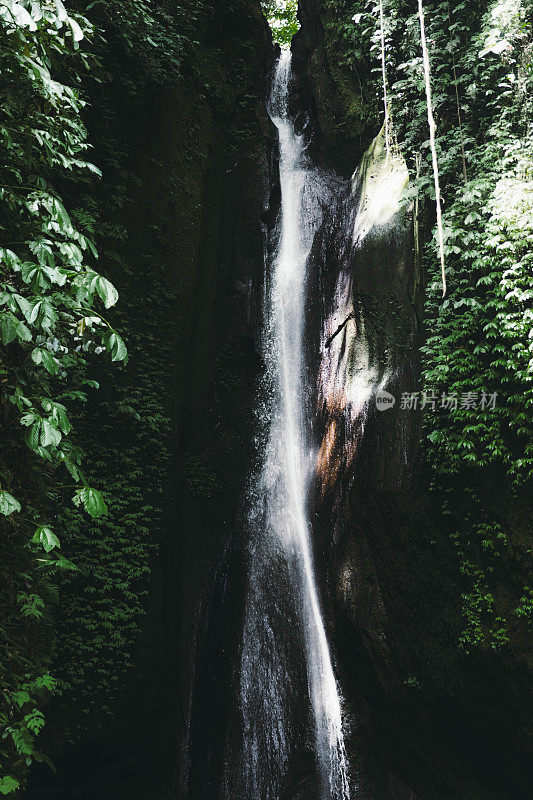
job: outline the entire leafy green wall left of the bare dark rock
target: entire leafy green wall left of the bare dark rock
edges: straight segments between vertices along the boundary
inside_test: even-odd
[[[47,761],[51,753],[64,769],[61,753],[69,743],[113,741],[116,747],[125,742],[124,732],[133,736],[148,707],[157,713],[164,693],[158,553],[163,535],[174,536],[179,526],[172,511],[172,463],[181,380],[187,374],[202,280],[207,177],[214,168],[226,169],[222,159],[246,148],[246,118],[258,95],[258,71],[250,69],[252,53],[257,54],[253,37],[261,38],[257,31],[264,31],[259,5],[241,0],[75,6],[77,13],[67,16],[61,3],[50,8],[33,3],[33,10],[30,4],[14,3],[15,21],[1,19],[5,41],[13,44],[7,54],[2,51],[12,79],[5,95],[10,102],[5,116],[11,118],[3,136],[15,165],[13,174],[2,176],[2,244],[30,239],[30,234],[46,236],[63,259],[82,263],[86,251],[92,263],[94,241],[102,270],[121,294],[120,337],[113,311],[102,309],[105,322],[96,322],[97,303],[107,309],[116,300],[114,285],[90,271],[73,282],[75,301],[81,298],[87,308],[83,330],[74,331],[80,337],[74,341],[78,350],[58,352],[54,342],[51,349],[44,346],[46,331],[54,332],[53,309],[49,313],[51,306],[43,303],[36,311],[28,289],[49,294],[70,313],[75,308],[67,297],[70,273],[63,281],[65,270],[56,255],[56,280],[48,243],[35,253],[43,268],[33,274],[28,263],[22,280],[16,276],[17,251],[13,247],[15,255],[7,253],[4,288],[9,296],[4,304],[11,316],[6,309],[5,325],[2,317],[4,387],[20,376],[27,382],[29,375],[39,389],[48,391],[47,382],[55,389],[59,370],[68,371],[74,385],[66,400],[59,398],[69,419],[62,405],[38,407],[35,420],[27,416],[30,436],[35,438],[35,425],[40,426],[35,457],[31,452],[26,456],[22,435],[12,428],[23,413],[35,413],[33,399],[25,403],[23,392],[18,409],[6,395],[2,406],[4,430],[12,442],[4,449],[0,478],[8,525],[2,545],[2,635],[12,643],[2,663],[7,687],[2,722],[8,737],[0,767],[6,794],[24,783],[32,760]],[[33,30],[28,14],[35,16],[39,8],[46,13]],[[34,66],[38,58],[44,69]],[[28,137],[28,121],[43,128],[35,144]],[[85,129],[91,161],[98,167],[83,161]],[[57,139],[64,130],[66,141]],[[34,195],[45,190],[52,199],[39,206]],[[63,246],[64,240],[71,244]],[[29,261],[24,251],[21,256]],[[51,326],[46,322],[50,314]],[[43,321],[44,345],[35,350],[28,373],[29,337]],[[93,331],[102,332],[101,343]],[[67,344],[56,335],[58,346]],[[124,340],[130,358],[117,373],[110,362],[124,358]],[[97,382],[87,383],[89,377]],[[67,433],[68,450],[63,447]],[[52,462],[43,467],[36,460],[41,450],[52,453]],[[76,472],[82,450],[82,488],[87,488],[80,500],[89,515],[69,506],[74,488],[64,487],[70,479],[60,478],[54,464],[68,458]],[[15,521],[22,520],[19,502],[27,504],[28,524]],[[98,520],[102,511],[107,511],[105,518]],[[35,530],[35,544],[28,547]],[[16,611],[9,615],[8,608]],[[56,697],[50,704],[52,692]],[[168,706],[168,696],[165,700]],[[49,724],[41,740],[47,755],[36,738],[45,719]],[[89,758],[90,748],[86,752]],[[53,784],[52,773],[50,778],[45,772],[37,776],[39,796],[48,781]],[[53,786],[50,791],[57,796]]]

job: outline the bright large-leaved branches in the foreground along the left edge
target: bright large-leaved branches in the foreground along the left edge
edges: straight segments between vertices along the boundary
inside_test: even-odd
[[[92,266],[93,220],[68,199],[76,182],[99,174],[86,159],[78,87],[88,64],[80,43],[91,36],[88,21],[59,0],[0,7],[2,794],[22,785],[32,761],[45,760],[36,738],[40,706],[55,689],[47,673],[50,578],[69,564],[48,522],[51,487],[81,485],[85,509],[102,510],[71,440],[72,401],[86,396],[78,383],[89,359],[126,357],[100,309],[118,295]]]

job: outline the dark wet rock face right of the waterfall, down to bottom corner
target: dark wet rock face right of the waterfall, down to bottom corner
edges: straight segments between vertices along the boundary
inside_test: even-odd
[[[363,115],[358,129],[350,119],[328,60],[322,4],[302,0],[300,16],[295,65],[310,147],[346,176],[361,162],[372,124],[366,127]],[[342,116],[350,133],[339,144],[332,120]],[[365,169],[371,174],[373,165]],[[502,654],[468,657],[458,650],[464,589],[429,493],[419,415],[399,403],[403,392],[418,388],[423,340],[424,276],[413,221],[406,209],[375,225],[358,246],[355,239],[347,245],[357,200],[347,190],[326,218],[309,295],[318,562],[349,709],[357,796],[525,800],[527,645],[512,642]],[[326,352],[327,336],[335,338],[325,356],[325,391],[318,354]],[[394,408],[377,409],[377,388],[394,395]],[[365,397],[372,398],[367,411],[350,416],[350,398],[360,408]]]

